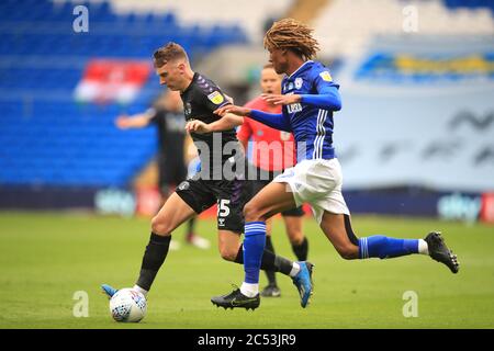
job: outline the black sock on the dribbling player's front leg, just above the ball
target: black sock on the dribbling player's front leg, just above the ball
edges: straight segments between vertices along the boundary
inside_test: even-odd
[[[168,254],[171,236],[160,236],[151,233],[149,244],[144,252],[141,274],[137,283],[141,288],[149,291],[156,274]]]

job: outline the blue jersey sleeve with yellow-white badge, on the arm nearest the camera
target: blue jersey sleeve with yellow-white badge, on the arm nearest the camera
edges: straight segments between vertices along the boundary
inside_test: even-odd
[[[341,110],[341,98],[339,95],[339,84],[333,81],[328,71],[322,71],[314,80],[317,94],[302,94],[301,102],[318,109],[330,111]]]

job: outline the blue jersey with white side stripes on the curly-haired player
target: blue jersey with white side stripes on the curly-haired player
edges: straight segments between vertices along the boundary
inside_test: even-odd
[[[281,83],[283,94],[323,94],[326,89],[338,89],[329,70],[321,63],[305,61]],[[283,117],[290,121],[297,146],[297,162],[304,159],[335,158],[333,147],[333,111],[313,104],[283,105]],[[305,149],[304,147],[305,146]]]

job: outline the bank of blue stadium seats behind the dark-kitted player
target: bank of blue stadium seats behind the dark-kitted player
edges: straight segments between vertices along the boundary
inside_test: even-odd
[[[194,60],[247,42],[236,24],[189,25],[168,8],[143,13],[124,11],[121,1],[82,4],[89,33],[72,30],[76,3],[0,2],[0,185],[127,185],[154,156],[155,131],[121,133],[113,120],[147,109],[157,78],[151,75],[132,104],[85,103],[74,93],[88,63],[149,60],[168,41],[181,43]]]

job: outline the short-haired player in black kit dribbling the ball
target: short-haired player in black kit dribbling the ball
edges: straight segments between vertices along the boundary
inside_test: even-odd
[[[244,263],[240,234],[244,231],[245,156],[234,128],[215,129],[221,120],[213,111],[229,104],[225,94],[210,79],[192,71],[186,50],[168,43],[154,54],[156,73],[160,84],[180,91],[186,115],[186,129],[190,132],[199,150],[201,171],[179,184],[151,220],[151,234],[144,252],[141,273],[134,290],[147,295],[168,254],[171,233],[190,217],[217,203],[217,233],[221,256],[228,261]],[[305,262],[292,262],[265,251],[260,268],[284,273],[295,285],[311,284],[308,275],[301,275]],[[297,286],[299,287],[299,286]],[[116,290],[102,285],[108,296]],[[259,295],[247,297],[243,307],[257,308]]]

